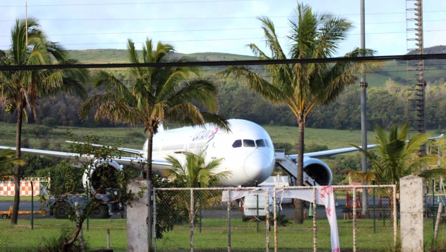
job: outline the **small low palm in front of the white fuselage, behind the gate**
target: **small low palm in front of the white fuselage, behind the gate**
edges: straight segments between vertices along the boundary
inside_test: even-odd
[[[186,152],[184,155],[184,162],[172,156],[167,156],[166,160],[172,165],[172,168],[165,173],[168,178],[183,184],[184,187],[207,188],[216,186],[226,180],[231,173],[229,171],[215,172],[223,159],[215,159],[206,164],[204,151],[199,154]],[[187,210],[189,220],[195,219],[198,210],[203,204],[207,205],[216,201],[221,202],[221,198],[213,195],[212,192],[203,195],[204,193],[206,192],[199,191],[198,194],[194,193],[194,202],[198,202],[198,204],[194,205],[193,214],[191,214],[190,196],[181,193],[175,195],[180,207],[184,207]]]

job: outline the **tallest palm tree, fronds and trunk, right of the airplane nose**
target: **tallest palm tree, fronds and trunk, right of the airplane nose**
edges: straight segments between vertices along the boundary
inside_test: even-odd
[[[313,13],[309,5],[298,4],[296,20],[290,19],[291,28],[288,40],[290,59],[331,58],[338,49],[338,43],[345,40],[351,24],[343,18],[331,14]],[[259,59],[287,59],[282,49],[273,22],[267,17],[258,18],[262,22],[265,43],[271,56],[256,44],[248,46]],[[373,51],[355,48],[346,57],[369,56]],[[369,70],[363,63],[295,63],[268,65],[270,79],[263,79],[246,67],[228,67],[220,72],[223,76],[235,75],[246,80],[249,87],[265,99],[285,104],[297,119],[297,178],[296,185],[303,185],[304,128],[308,115],[318,104],[326,105],[357,79],[360,70]],[[297,201],[296,223],[303,222],[303,202]]]

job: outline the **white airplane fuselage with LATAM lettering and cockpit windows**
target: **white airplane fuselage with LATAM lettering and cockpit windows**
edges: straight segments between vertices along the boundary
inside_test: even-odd
[[[222,159],[216,172],[229,171],[223,186],[254,186],[270,176],[275,165],[271,137],[261,126],[246,120],[228,120],[231,131],[219,127],[181,127],[154,135],[153,159],[173,156],[184,161],[184,152],[204,152],[205,162]],[[147,153],[147,141],[143,152]],[[153,165],[154,172],[162,174],[165,166]]]

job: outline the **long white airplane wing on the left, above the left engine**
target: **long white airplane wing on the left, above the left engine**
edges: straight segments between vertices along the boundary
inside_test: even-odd
[[[8,146],[0,146],[0,149],[9,149],[9,150],[15,150],[15,147],[8,147]],[[22,153],[29,153],[34,155],[40,155],[40,156],[46,156],[46,157],[54,157],[54,158],[60,158],[60,159],[69,159],[74,160],[76,157],[79,157],[79,153],[71,153],[71,152],[61,152],[61,151],[49,151],[49,150],[38,150],[38,149],[28,149],[28,148],[21,148],[20,149]],[[94,155],[83,155],[80,157],[80,161],[87,161],[95,159]],[[143,168],[143,164],[147,162],[145,158],[142,157],[115,157],[112,158],[112,160],[119,165],[134,165],[139,168]],[[168,167],[171,167],[170,163],[168,163],[164,159],[157,159],[152,161],[152,165],[155,169],[165,169]]]

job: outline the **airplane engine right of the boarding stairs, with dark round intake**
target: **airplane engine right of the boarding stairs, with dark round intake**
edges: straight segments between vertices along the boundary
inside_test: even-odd
[[[314,158],[304,158],[303,182],[307,185],[331,185],[333,174],[330,167],[323,161]]]

